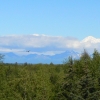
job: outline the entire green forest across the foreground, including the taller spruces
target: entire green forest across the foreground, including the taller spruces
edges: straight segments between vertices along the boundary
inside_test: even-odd
[[[0,63],[0,100],[100,100],[100,53],[84,50],[63,64]]]

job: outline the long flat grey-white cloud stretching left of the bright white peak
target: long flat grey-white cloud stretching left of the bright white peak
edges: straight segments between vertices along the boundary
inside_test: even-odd
[[[46,35],[11,35],[0,37],[0,45],[16,45],[25,47],[45,47],[48,45],[54,45],[58,47],[69,47],[71,42],[75,40],[64,37],[53,37]]]

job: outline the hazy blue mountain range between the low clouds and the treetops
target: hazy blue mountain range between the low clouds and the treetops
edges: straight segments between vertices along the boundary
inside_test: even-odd
[[[5,63],[54,63],[54,64],[61,64],[65,59],[67,59],[69,56],[72,56],[73,58],[79,58],[79,53],[75,52],[73,50],[67,50],[66,52],[63,52],[61,54],[56,54],[53,56],[50,55],[38,55],[38,54],[29,54],[29,55],[23,55],[18,56],[12,52],[5,53]]]

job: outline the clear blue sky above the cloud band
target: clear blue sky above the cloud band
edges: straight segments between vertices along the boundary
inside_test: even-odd
[[[0,35],[100,38],[100,0],[0,0]]]

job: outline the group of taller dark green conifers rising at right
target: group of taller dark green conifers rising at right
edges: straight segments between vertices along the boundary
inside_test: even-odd
[[[100,99],[100,55],[97,51],[94,54],[91,58],[84,50],[79,60],[73,62],[69,58],[65,81],[56,96],[57,100]]]

